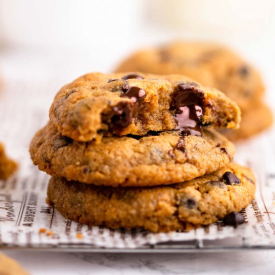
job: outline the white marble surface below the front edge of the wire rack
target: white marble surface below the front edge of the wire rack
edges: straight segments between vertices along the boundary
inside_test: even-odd
[[[109,254],[5,251],[33,275],[274,274],[275,250],[253,252]]]

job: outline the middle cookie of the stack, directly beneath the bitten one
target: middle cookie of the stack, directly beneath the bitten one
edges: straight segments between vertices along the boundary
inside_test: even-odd
[[[62,136],[51,123],[30,143],[35,165],[50,175],[98,185],[142,186],[188,180],[226,166],[234,145],[214,130],[182,136],[178,131],[146,136],[110,136],[79,142]]]

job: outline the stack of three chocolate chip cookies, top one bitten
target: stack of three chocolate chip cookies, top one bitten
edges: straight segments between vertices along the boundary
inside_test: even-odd
[[[153,232],[243,222],[255,180],[215,130],[240,122],[219,90],[179,74],[88,73],[58,91],[49,118],[30,154],[64,216]]]

